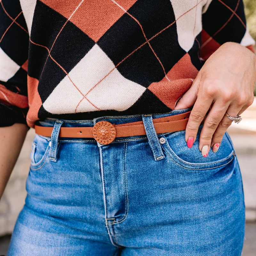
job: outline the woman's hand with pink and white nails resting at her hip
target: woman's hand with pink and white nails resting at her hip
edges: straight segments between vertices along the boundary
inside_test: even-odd
[[[185,136],[189,148],[205,118],[199,149],[205,157],[210,147],[217,152],[224,133],[232,123],[225,113],[229,116],[240,115],[253,102],[255,73],[255,54],[240,44],[225,43],[210,56],[191,88],[174,108],[194,105]]]

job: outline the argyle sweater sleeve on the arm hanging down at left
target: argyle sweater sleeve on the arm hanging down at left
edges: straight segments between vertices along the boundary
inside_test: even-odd
[[[26,124],[28,43],[19,0],[0,1],[0,127]]]

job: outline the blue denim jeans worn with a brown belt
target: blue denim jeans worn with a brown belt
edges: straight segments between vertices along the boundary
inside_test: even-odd
[[[100,120],[142,120],[147,135],[109,145],[58,139],[61,126],[92,127]],[[156,135],[151,115],[49,118],[41,125],[54,130],[32,144],[28,196],[8,256],[241,255],[243,186],[227,133],[218,152],[205,158],[200,131],[188,148],[185,131]]]

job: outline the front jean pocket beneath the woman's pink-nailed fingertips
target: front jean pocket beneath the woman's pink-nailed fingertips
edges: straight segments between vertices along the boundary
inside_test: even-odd
[[[206,170],[229,164],[235,158],[235,151],[228,134],[225,133],[219,150],[214,153],[212,149],[207,157],[202,156],[199,150],[200,126],[192,148],[188,148],[185,141],[185,131],[172,132],[162,137],[165,143],[161,144],[167,157],[181,167],[188,170]]]

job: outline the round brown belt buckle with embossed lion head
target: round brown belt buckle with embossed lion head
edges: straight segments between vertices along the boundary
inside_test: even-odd
[[[100,144],[107,145],[116,138],[116,128],[107,121],[100,121],[92,128],[92,136]]]

